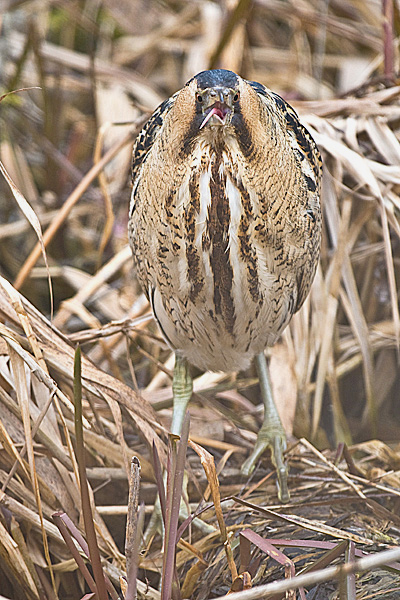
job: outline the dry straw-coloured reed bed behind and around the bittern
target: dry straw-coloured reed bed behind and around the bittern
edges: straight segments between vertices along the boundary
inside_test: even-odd
[[[348,547],[398,544],[398,3],[3,0],[1,8],[0,595],[76,599],[88,589],[52,520],[61,511],[87,534],[73,449],[78,343],[99,552],[121,593],[130,461],[133,454],[140,461],[140,500],[149,515],[156,495],[151,447],[165,464],[173,366],[127,248],[131,147],[157,104],[210,67],[280,93],[324,160],[320,268],[304,308],[270,351],[275,397],[293,441],[296,508],[285,508],[292,521],[282,525],[276,514],[231,500],[225,518],[234,556],[244,525],[286,541],[307,530],[326,544],[332,536]],[[194,374],[191,439],[215,456],[221,495],[276,504],[268,458],[251,483],[239,472],[262,417],[255,374]],[[195,502],[209,478],[190,452]],[[350,475],[361,480],[351,484]],[[214,513],[205,514],[216,526]],[[232,564],[218,536],[217,528],[199,538],[194,528],[190,544],[180,546],[180,581],[192,577],[184,597],[231,589]],[[145,593],[147,585],[147,595],[158,598],[160,537],[147,542],[133,561],[138,589]],[[292,556],[301,568],[335,558],[319,563],[304,544],[306,558]],[[260,540],[256,547],[265,552]],[[263,560],[249,572],[257,585],[284,571]],[[388,591],[393,578],[385,572],[378,579],[375,594],[398,597]],[[357,589],[329,585],[309,585],[305,597],[373,597],[365,576]]]

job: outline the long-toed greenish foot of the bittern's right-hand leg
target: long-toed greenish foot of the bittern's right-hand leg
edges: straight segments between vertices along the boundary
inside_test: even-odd
[[[288,468],[283,454],[286,450],[286,435],[281,427],[268,427],[265,424],[258,432],[253,452],[242,465],[241,471],[247,477],[252,473],[258,459],[269,448],[271,451],[272,464],[276,468],[278,478],[278,498],[280,502],[287,503],[290,500],[288,488]]]

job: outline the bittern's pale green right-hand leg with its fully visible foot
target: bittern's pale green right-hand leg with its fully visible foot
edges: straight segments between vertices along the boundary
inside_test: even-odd
[[[288,469],[283,458],[286,450],[286,434],[272,395],[271,380],[264,352],[257,354],[255,361],[264,403],[264,420],[258,432],[254,450],[243,463],[242,473],[250,475],[257,460],[267,448],[270,448],[272,462],[278,476],[278,497],[281,502],[289,502]]]

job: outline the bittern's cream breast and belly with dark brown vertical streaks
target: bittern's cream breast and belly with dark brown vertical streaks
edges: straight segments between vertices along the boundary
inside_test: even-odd
[[[207,370],[233,371],[272,345],[296,305],[297,266],[276,271],[254,190],[229,160],[192,168],[177,189],[154,264],[152,307],[171,346]],[[257,213],[258,211],[258,213]],[[152,232],[149,232],[149,237]],[[159,252],[159,250],[157,250]],[[157,262],[158,261],[158,262]],[[168,274],[167,278],[165,274]]]

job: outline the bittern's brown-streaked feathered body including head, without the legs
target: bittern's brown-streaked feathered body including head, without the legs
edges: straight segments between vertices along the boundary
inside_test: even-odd
[[[245,369],[303,304],[319,258],[321,159],[296,112],[259,83],[204,71],[133,150],[129,239],[170,345]]]

